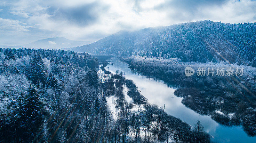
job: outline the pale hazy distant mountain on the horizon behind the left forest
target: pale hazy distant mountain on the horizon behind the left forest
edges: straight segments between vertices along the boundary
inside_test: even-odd
[[[47,38],[38,40],[29,44],[20,45],[22,47],[29,47],[29,48],[45,48],[45,49],[52,49],[52,48],[68,48],[68,47],[77,47],[86,44],[90,44],[90,41],[73,41],[66,39],[64,37],[54,37],[54,38]]]

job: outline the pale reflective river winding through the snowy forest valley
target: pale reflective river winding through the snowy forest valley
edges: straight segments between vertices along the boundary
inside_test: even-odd
[[[112,73],[116,70],[122,71],[126,79],[131,79],[140,89],[150,104],[164,106],[165,111],[189,125],[195,125],[197,120],[200,120],[204,126],[204,131],[212,136],[212,141],[216,143],[256,143],[256,137],[249,137],[241,126],[227,127],[218,124],[212,120],[210,116],[204,116],[187,108],[181,103],[182,98],[174,95],[174,88],[168,87],[163,81],[156,81],[152,78],[147,78],[143,75],[135,74],[128,68],[128,64],[112,58],[109,60],[113,65],[108,64],[105,68]]]

